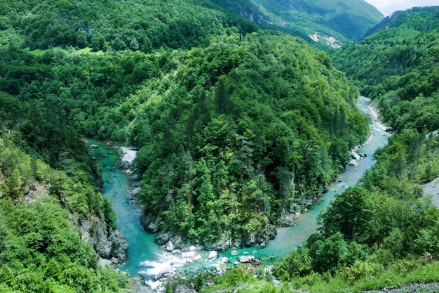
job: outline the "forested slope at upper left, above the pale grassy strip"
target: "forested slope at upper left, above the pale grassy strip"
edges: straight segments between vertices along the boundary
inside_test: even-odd
[[[251,22],[218,9],[210,1],[10,1],[1,3],[0,45],[29,48],[91,47],[149,52],[161,46],[208,44],[225,27]]]

